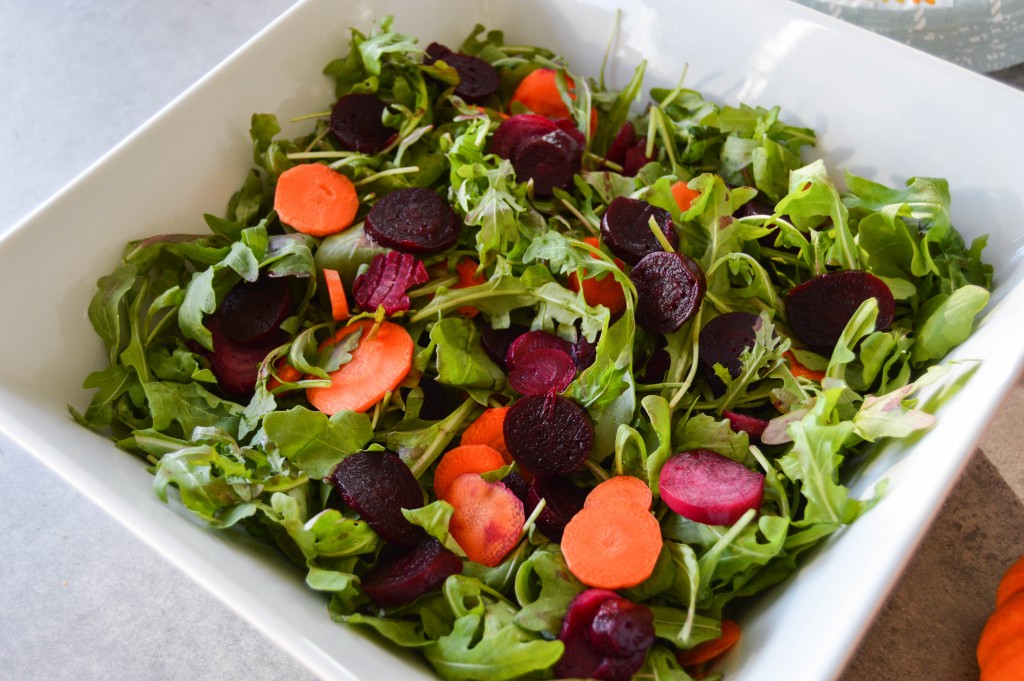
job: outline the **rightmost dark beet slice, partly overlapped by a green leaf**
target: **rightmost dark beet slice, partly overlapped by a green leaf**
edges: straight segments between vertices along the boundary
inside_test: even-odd
[[[785,296],[785,314],[801,343],[828,356],[850,317],[868,298],[879,302],[874,329],[885,331],[895,312],[892,291],[874,274],[859,269],[819,274],[794,287]]]

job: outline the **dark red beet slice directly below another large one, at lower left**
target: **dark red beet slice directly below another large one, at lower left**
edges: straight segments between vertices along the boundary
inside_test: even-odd
[[[378,607],[412,603],[423,594],[439,589],[452,574],[462,573],[462,559],[433,537],[413,549],[383,552],[359,581],[362,592]]]

